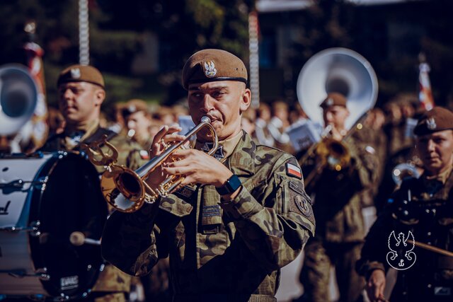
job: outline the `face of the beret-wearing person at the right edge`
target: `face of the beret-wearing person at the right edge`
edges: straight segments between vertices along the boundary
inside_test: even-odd
[[[453,163],[453,130],[418,137],[417,150],[430,175],[442,173]]]

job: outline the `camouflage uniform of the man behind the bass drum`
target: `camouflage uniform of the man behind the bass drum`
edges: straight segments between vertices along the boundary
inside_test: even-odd
[[[115,132],[111,132],[108,129],[95,127],[92,133],[84,134],[84,137],[86,138],[81,142],[89,144],[92,141],[101,139],[104,134],[108,136],[110,144],[113,144],[118,150],[117,163],[136,169],[146,162],[140,155],[141,148],[138,144],[133,143],[125,137],[120,137],[119,135],[116,135]],[[76,146],[67,144],[67,136],[68,134],[63,132],[62,134],[50,137],[40,151],[80,151],[80,144],[76,144]],[[105,152],[108,151],[105,146],[102,149]],[[96,169],[98,169],[100,173],[104,171],[104,168],[100,166],[96,166]],[[129,275],[121,272],[119,269],[113,267],[113,265],[106,265],[105,269],[99,274],[96,284],[93,286],[90,294],[91,299],[96,302],[125,301],[125,294],[130,291],[130,281],[131,277]],[[84,299],[84,301],[86,301],[86,299]]]

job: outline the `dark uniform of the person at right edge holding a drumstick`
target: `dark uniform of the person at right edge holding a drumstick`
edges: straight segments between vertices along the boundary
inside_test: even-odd
[[[362,257],[357,262],[360,274],[368,278],[374,269],[386,272],[390,268],[386,257],[391,252],[391,231],[396,236],[403,232],[406,238],[411,231],[416,242],[453,251],[451,171],[443,184],[440,180],[428,180],[425,175],[403,181],[367,235]],[[390,301],[453,301],[453,257],[418,247],[412,252],[416,255],[415,264],[398,271]]]

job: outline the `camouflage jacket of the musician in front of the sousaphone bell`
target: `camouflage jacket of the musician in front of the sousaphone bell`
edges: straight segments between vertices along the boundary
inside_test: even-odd
[[[350,155],[350,164],[336,171],[325,166],[320,173],[316,153],[301,163],[305,177],[316,175],[306,184],[316,213],[316,238],[331,243],[361,242],[365,238],[360,193],[377,177],[377,157],[355,137],[342,141]],[[368,147],[369,149],[369,147]]]

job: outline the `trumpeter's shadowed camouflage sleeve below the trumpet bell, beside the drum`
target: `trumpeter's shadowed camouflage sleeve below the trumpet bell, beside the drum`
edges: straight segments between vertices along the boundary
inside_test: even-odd
[[[105,223],[102,255],[122,272],[144,276],[168,256],[168,232],[193,206],[171,194],[134,213],[115,211]]]

